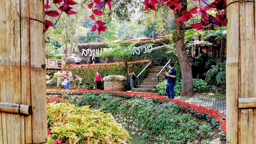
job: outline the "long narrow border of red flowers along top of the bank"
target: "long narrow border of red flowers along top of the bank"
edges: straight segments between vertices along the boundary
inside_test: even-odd
[[[123,91],[104,91],[104,90],[87,90],[87,89],[77,89],[77,90],[63,90],[63,89],[46,89],[46,92],[57,92],[57,93],[64,93],[64,92],[107,92],[107,93],[116,93],[116,94],[124,94],[128,96],[138,96],[143,98],[153,98],[157,100],[171,100],[168,99],[166,96],[160,96],[155,94],[148,94],[148,93],[135,93],[135,92],[123,92]],[[226,135],[226,115],[224,113],[218,113],[217,109],[208,109],[201,105],[196,104],[190,104],[185,101],[181,100],[172,100],[174,103],[177,103],[180,105],[180,107],[185,110],[189,111],[190,113],[194,113],[198,117],[206,117],[208,121],[211,121],[212,124],[219,124],[220,130],[223,132],[223,134]],[[217,125],[217,127],[219,127]],[[224,135],[224,136],[225,136]]]

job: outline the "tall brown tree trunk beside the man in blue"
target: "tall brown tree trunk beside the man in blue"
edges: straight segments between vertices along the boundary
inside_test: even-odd
[[[182,16],[183,11],[187,11],[187,0],[180,1],[182,8],[178,9],[174,14],[175,18],[178,19]],[[180,21],[175,20],[175,31],[176,36],[174,35],[173,39],[175,40],[175,48],[177,51],[180,70],[182,75],[182,89],[180,95],[193,95],[193,77],[192,77],[192,68],[188,60],[188,54],[185,49],[184,37],[185,37],[185,25]]]

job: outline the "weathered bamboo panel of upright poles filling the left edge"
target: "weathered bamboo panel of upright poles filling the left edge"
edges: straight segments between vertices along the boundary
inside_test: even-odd
[[[44,1],[0,9],[0,144],[46,144]]]

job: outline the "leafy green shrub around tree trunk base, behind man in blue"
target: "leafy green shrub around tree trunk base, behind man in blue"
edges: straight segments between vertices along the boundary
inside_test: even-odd
[[[164,80],[163,82],[159,83],[156,85],[156,90],[159,92],[161,95],[167,95],[165,89],[167,85],[167,80]],[[193,79],[193,86],[194,86],[194,91],[195,92],[205,92],[209,86],[207,85],[206,82],[204,82],[202,79]],[[174,93],[176,96],[180,95],[182,89],[182,80],[176,81],[176,84],[174,86]]]

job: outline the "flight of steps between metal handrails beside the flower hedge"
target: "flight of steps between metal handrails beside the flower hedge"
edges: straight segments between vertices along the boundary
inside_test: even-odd
[[[157,84],[157,74],[161,71],[164,66],[153,66],[149,68],[148,73],[144,76],[140,85],[137,85],[136,88],[132,89],[131,92],[144,92],[144,93],[153,93],[156,95],[160,95],[160,93],[156,92],[156,84]],[[164,71],[159,75],[159,82],[164,80]]]

